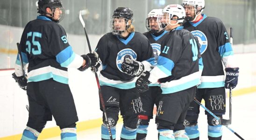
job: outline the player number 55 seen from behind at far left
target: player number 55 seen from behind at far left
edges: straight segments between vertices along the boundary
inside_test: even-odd
[[[36,20],[24,28],[19,46],[23,63],[29,63],[28,83],[22,77],[19,57],[13,74],[28,94],[29,117],[21,140],[37,140],[52,116],[61,129],[61,140],[77,140],[78,117],[67,69],[84,71],[95,65],[97,58],[94,54],[78,56],[73,52],[64,28],[57,24],[64,17],[60,0],[39,0],[38,13]]]

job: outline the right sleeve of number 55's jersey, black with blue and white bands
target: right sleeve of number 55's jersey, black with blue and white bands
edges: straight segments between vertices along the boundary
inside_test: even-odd
[[[83,64],[83,58],[77,55],[70,46],[64,28],[54,24],[48,36],[50,51],[62,67],[79,68]]]

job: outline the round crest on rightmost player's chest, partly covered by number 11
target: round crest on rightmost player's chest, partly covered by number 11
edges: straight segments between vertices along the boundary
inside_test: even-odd
[[[208,46],[207,37],[203,32],[201,32],[199,30],[192,31],[191,33],[198,39],[198,42],[201,45],[200,46],[200,54],[202,55],[206,51],[207,46]]]

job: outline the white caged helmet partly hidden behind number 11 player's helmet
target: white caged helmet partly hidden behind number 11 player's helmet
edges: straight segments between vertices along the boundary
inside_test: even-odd
[[[159,27],[159,24],[158,24],[157,21],[158,21],[159,17],[163,16],[162,10],[163,9],[153,9],[149,12],[149,14],[146,18],[146,28],[152,34],[158,33],[160,31],[160,27]],[[154,21],[149,21],[150,19],[151,20],[154,19],[155,22]],[[151,26],[149,25],[149,23],[151,23]]]

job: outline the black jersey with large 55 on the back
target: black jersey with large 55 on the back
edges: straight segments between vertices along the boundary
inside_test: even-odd
[[[75,54],[69,45],[64,28],[46,16],[37,16],[28,22],[21,36],[22,60],[28,64],[28,82],[50,78],[68,84],[67,68],[79,68],[83,58]],[[22,76],[17,57],[15,74]]]

